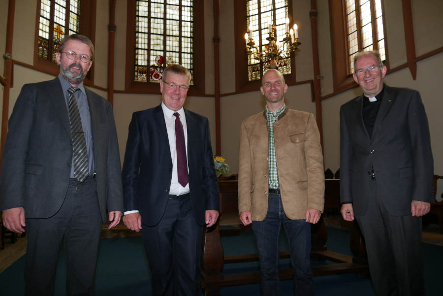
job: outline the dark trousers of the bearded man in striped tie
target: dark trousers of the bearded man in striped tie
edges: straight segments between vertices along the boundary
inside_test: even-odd
[[[60,210],[46,219],[26,219],[26,295],[52,296],[62,241],[68,295],[94,295],[101,216],[95,179],[71,179]],[[42,204],[41,206],[44,206]],[[26,212],[26,209],[25,209]]]

